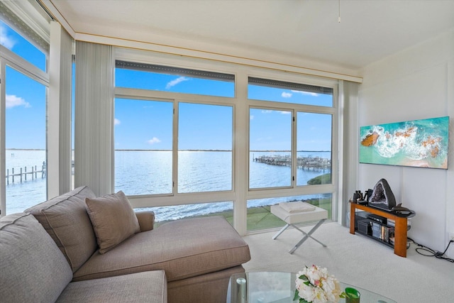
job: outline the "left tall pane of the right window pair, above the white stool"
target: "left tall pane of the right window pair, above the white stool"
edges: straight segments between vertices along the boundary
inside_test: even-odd
[[[292,185],[292,112],[250,109],[249,188]]]

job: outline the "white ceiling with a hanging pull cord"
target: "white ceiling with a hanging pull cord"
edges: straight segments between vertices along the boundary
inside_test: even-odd
[[[47,2],[76,34],[225,55],[240,55],[241,50],[279,53],[350,70],[360,70],[454,28],[454,0]]]

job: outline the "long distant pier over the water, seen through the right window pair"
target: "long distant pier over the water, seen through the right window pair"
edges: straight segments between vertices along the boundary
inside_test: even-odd
[[[292,158],[289,155],[260,155],[253,160],[270,165],[292,165]],[[331,169],[331,159],[312,157],[311,155],[298,157],[297,167],[302,170],[328,170]]]

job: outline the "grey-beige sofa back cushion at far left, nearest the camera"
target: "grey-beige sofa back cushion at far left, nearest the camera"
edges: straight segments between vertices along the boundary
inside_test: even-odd
[[[1,302],[55,302],[71,280],[65,256],[34,216],[0,218]]]

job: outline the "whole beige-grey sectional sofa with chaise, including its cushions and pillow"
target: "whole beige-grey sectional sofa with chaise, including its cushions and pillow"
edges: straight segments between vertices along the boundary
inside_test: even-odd
[[[221,216],[154,228],[123,192],[79,187],[0,219],[2,302],[226,302],[247,243]]]

